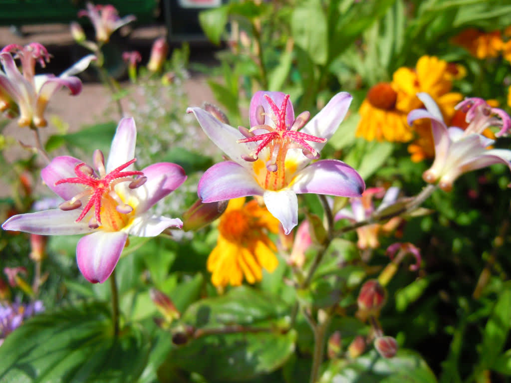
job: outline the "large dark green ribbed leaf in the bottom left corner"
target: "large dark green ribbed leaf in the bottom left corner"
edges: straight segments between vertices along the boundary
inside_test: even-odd
[[[134,381],[146,364],[150,343],[123,327],[112,334],[107,306],[88,304],[43,313],[9,334],[0,348],[2,382]]]

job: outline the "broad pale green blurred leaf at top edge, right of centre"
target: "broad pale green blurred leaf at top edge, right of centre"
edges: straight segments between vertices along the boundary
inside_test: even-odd
[[[315,64],[327,63],[327,17],[320,1],[312,0],[296,6],[291,15],[291,35],[296,45],[307,52]]]

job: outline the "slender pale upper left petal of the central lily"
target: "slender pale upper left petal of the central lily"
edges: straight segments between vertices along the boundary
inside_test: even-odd
[[[202,130],[215,142],[222,151],[233,161],[250,169],[251,165],[243,159],[249,156],[250,151],[257,145],[254,142],[238,143],[239,139],[245,138],[238,129],[220,122],[210,113],[201,108],[188,108],[187,113],[195,114]]]

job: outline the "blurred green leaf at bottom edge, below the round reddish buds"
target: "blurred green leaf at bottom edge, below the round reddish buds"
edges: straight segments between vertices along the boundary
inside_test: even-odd
[[[320,383],[436,383],[436,378],[423,358],[410,350],[399,350],[397,355],[385,359],[375,350],[358,357],[346,365],[333,361],[323,373]]]

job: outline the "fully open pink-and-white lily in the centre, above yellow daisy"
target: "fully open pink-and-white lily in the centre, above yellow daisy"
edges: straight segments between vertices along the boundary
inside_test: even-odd
[[[310,113],[295,118],[288,94],[258,91],[250,102],[250,129],[233,128],[201,108],[188,108],[206,135],[231,159],[204,173],[199,181],[199,197],[203,202],[215,202],[262,196],[288,234],[298,223],[296,194],[360,196],[364,181],[344,162],[327,159],[307,166],[319,157],[351,100],[349,93],[336,94],[307,123]]]

